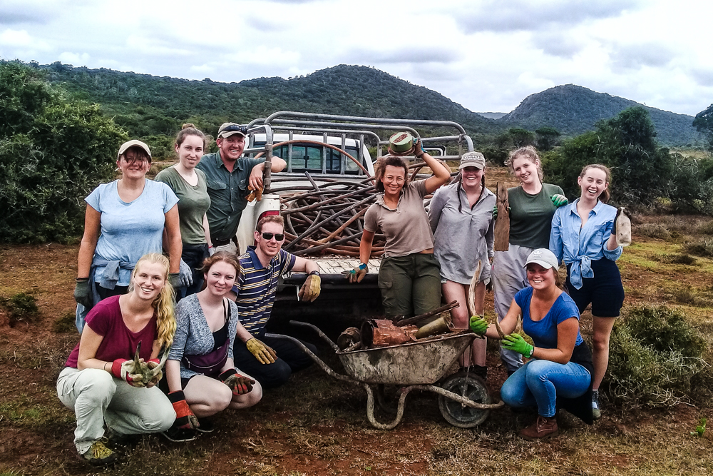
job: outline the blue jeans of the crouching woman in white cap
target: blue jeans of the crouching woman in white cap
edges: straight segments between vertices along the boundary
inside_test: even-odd
[[[589,388],[589,370],[577,363],[559,364],[533,359],[503,383],[500,396],[514,408],[534,407],[543,417],[553,417],[557,397],[575,398]]]

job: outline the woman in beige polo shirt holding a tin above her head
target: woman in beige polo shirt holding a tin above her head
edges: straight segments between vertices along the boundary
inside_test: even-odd
[[[409,167],[401,156],[411,155],[426,162],[434,176],[409,183]],[[428,313],[441,305],[441,266],[434,256],[434,233],[424,197],[448,182],[451,171],[424,151],[421,139],[399,132],[389,139],[389,155],[379,158],[374,179],[376,191],[381,193],[364,216],[359,245],[361,263],[347,278],[350,283],[364,278],[374,234],[381,231],[386,245],[379,266],[379,289],[386,315],[410,317]]]

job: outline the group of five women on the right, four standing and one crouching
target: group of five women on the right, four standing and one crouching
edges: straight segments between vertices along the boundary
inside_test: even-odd
[[[508,379],[501,397],[511,407],[538,408],[538,419],[520,435],[558,435],[558,405],[592,423],[601,416],[599,387],[607,370],[610,333],[624,301],[615,264],[622,253],[615,229],[620,211],[607,205],[609,169],[599,164],[583,168],[577,179],[580,198],[569,203],[559,186],[543,183],[535,148],[513,151],[506,164],[520,185],[508,189],[509,246],[494,251],[498,208],[496,196],[485,186],[483,155],[464,153],[456,180],[446,185],[451,171],[424,151],[421,141],[412,142],[411,148],[400,148],[392,140],[389,156],[379,161],[376,187],[381,193],[364,217],[361,263],[349,280],[358,283],[367,273],[371,240],[374,233],[383,233],[379,288],[386,315],[429,313],[440,305],[442,292],[448,302],[458,301],[451,310],[456,328],[501,339],[482,317],[486,290],[492,289],[506,333],[501,360]],[[433,176],[409,182],[409,168],[400,157],[409,155],[424,161]],[[426,212],[429,193],[434,195]],[[469,316],[466,296],[478,263],[481,272]],[[567,268],[564,285],[561,264]],[[579,333],[580,315],[589,305],[593,353]],[[534,345],[513,332],[520,316]],[[528,358],[525,364],[523,357]],[[484,380],[486,339],[474,340],[460,364],[461,370]]]

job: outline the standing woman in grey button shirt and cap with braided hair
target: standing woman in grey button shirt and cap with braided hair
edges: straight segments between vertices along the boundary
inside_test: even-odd
[[[451,309],[453,324],[467,329],[470,316],[466,296],[478,262],[483,265],[471,313],[483,315],[486,284],[491,280],[496,196],[485,185],[486,159],[482,153],[464,153],[458,168],[458,181],[439,188],[431,198],[429,220],[435,238],[434,254],[441,264],[443,295],[446,302],[457,300],[459,304]],[[486,378],[486,348],[486,339],[474,340],[472,349],[461,357],[461,367],[471,366],[477,375]]]

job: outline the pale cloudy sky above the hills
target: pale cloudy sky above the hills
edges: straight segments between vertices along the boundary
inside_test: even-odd
[[[711,0],[1,0],[0,58],[187,79],[374,66],[471,111],[574,83],[695,115]]]

